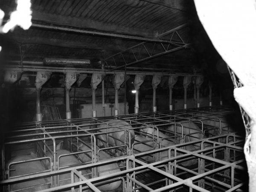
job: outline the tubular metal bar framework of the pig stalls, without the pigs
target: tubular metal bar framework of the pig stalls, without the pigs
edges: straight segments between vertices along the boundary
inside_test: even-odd
[[[216,113],[219,113],[216,115]],[[200,116],[200,114],[203,114]],[[76,174],[79,178],[79,182],[70,183],[64,186],[54,186],[51,189],[46,189],[44,191],[53,191],[57,189],[71,189],[75,186],[81,186],[82,189],[85,189],[88,186],[91,186],[93,190],[95,189],[97,191],[97,183],[108,183],[109,180],[118,180],[122,178],[123,182],[123,188],[125,187],[128,191],[132,190],[129,186],[129,183],[136,183],[136,187],[141,187],[145,189],[151,189],[151,187],[147,187],[147,185],[142,184],[140,180],[136,180],[135,177],[133,177],[133,174],[138,174],[139,172],[143,172],[145,169],[150,169],[153,171],[156,171],[163,175],[166,179],[166,186],[161,187],[159,189],[156,189],[154,191],[163,191],[167,189],[179,189],[182,187],[181,185],[187,186],[190,189],[197,189],[200,191],[206,191],[204,187],[209,187],[212,185],[212,189],[220,188],[221,184],[223,184],[224,189],[228,189],[229,191],[240,189],[242,186],[244,186],[246,183],[239,180],[239,178],[236,178],[236,172],[237,170],[245,171],[243,166],[241,166],[241,163],[244,162],[244,159],[241,157],[243,154],[243,138],[236,134],[225,134],[221,135],[221,131],[219,132],[218,136],[211,137],[211,138],[204,138],[197,141],[191,141],[187,143],[179,143],[177,145],[167,146],[167,147],[161,147],[161,148],[155,148],[155,145],[160,145],[162,140],[165,138],[160,138],[159,133],[160,131],[164,131],[164,128],[168,125],[179,125],[182,128],[184,127],[182,123],[184,122],[198,122],[202,124],[202,129],[200,134],[204,135],[204,129],[207,129],[207,126],[204,125],[201,120],[203,119],[219,119],[221,116],[225,116],[228,113],[232,113],[232,110],[226,107],[218,107],[218,106],[212,106],[211,108],[200,108],[200,111],[198,109],[188,109],[186,111],[184,110],[177,110],[177,111],[162,111],[162,112],[155,112],[155,113],[139,113],[139,114],[133,114],[133,115],[123,115],[118,116],[118,119],[124,120],[131,124],[133,127],[130,130],[134,130],[136,133],[140,133],[143,135],[143,133],[140,131],[140,128],[151,128],[152,130],[156,130],[157,134],[152,135],[151,138],[148,140],[141,142],[141,143],[155,143],[152,144],[152,150],[150,151],[141,151],[139,153],[133,153],[133,145],[131,146],[131,143],[125,143],[129,149],[131,149],[131,154],[127,154],[125,156],[121,157],[112,157],[111,159],[107,160],[101,160],[98,161],[97,158],[92,159],[92,163],[79,165],[75,167],[64,167],[63,169],[52,169],[48,170],[44,173],[36,173],[32,175],[21,175],[20,177],[15,177],[12,179],[2,180],[0,181],[0,185],[8,185],[13,182],[22,182],[26,179],[36,179],[38,177],[54,177],[58,176],[61,173],[67,173],[70,172],[72,174]],[[215,117],[213,117],[215,115]],[[216,117],[217,116],[217,117]],[[198,119],[201,117],[201,119]],[[81,137],[91,137],[92,140],[96,141],[97,136],[100,134],[106,134],[111,133],[115,131],[107,131],[108,128],[111,128],[111,126],[107,126],[105,128],[105,131],[100,128],[96,128],[98,125],[104,124],[106,121],[109,121],[110,119],[113,119],[113,117],[102,117],[98,119],[70,119],[68,122],[66,120],[57,120],[57,121],[48,121],[48,122],[41,122],[41,125],[38,126],[35,122],[29,122],[29,123],[23,123],[15,129],[15,131],[12,131],[14,134],[13,136],[10,136],[8,138],[5,138],[4,141],[4,147],[8,148],[8,145],[17,145],[19,143],[35,143],[35,142],[44,142],[45,144],[49,143],[47,141],[52,142],[52,145],[54,145],[54,150],[52,151],[53,154],[55,154],[55,146],[56,141],[63,140],[63,138],[66,138],[67,140],[76,140],[79,142],[81,140]],[[152,125],[153,124],[153,125]],[[219,119],[219,125],[221,125],[221,119]],[[92,128],[93,127],[93,128]],[[69,129],[67,129],[69,128]],[[32,131],[41,131],[36,134],[32,133]],[[101,132],[99,132],[101,131]],[[118,131],[124,131],[124,130],[118,130]],[[197,133],[199,134],[199,133]],[[38,138],[34,138],[35,135],[38,136]],[[189,135],[177,135],[175,137],[189,137]],[[225,143],[222,142],[221,138],[226,138]],[[230,138],[230,139],[229,139]],[[130,137],[131,140],[131,137]],[[95,150],[95,146],[93,146],[93,143],[88,143],[89,146],[91,146],[92,149]],[[138,142],[137,144],[139,144]],[[76,142],[73,142],[74,146],[76,146]],[[129,146],[130,145],[130,146]],[[184,149],[185,146],[189,145],[198,145],[201,147],[198,147],[195,151],[187,151]],[[45,148],[50,148],[45,147]],[[113,147],[100,149],[100,150],[108,150]],[[127,149],[127,150],[129,150]],[[99,151],[100,151],[99,150]],[[220,160],[215,157],[215,154],[218,154],[218,151],[224,151],[225,152],[225,160]],[[99,153],[99,151],[95,151],[95,155]],[[163,151],[168,151],[168,158],[166,159],[158,159],[157,161],[154,160],[153,163],[145,163],[143,162],[143,156],[145,155],[158,155],[162,153]],[[172,152],[173,151],[173,152]],[[230,155],[232,153],[234,157],[231,157]],[[45,151],[46,152],[46,151]],[[75,151],[73,154],[78,154],[80,152]],[[4,159],[5,152],[2,153],[2,160]],[[142,157],[142,159],[141,159]],[[189,160],[189,159],[198,159],[198,167],[190,170],[186,167],[182,166],[181,163]],[[80,171],[81,169],[89,169],[92,167],[99,167],[102,165],[107,165],[108,163],[113,162],[121,162],[125,161],[126,168],[124,171],[112,173],[109,175],[104,175],[100,177],[93,177],[88,180],[84,180],[83,176],[77,171]],[[207,163],[208,162],[208,163]],[[56,167],[57,160],[54,160],[52,162],[53,168]],[[137,167],[135,167],[135,164],[137,164]],[[166,165],[166,171],[163,171],[157,166],[160,165]],[[215,165],[215,166],[213,166]],[[220,166],[217,166],[220,165]],[[182,170],[182,172],[178,173],[177,170]],[[229,172],[225,170],[230,170]],[[217,173],[218,172],[218,173]],[[221,173],[223,172],[223,174]],[[190,173],[192,175],[195,175],[193,177],[189,177],[188,179],[180,179],[177,177],[178,175]],[[221,174],[220,174],[221,173]],[[218,177],[224,178],[224,180],[219,180],[218,177],[212,177],[211,175],[218,174]],[[226,175],[225,175],[226,174]],[[72,176],[73,177],[73,176]],[[72,179],[71,177],[71,179]],[[105,181],[102,181],[105,180]],[[126,180],[126,183],[125,183]],[[200,185],[201,180],[205,180],[207,183],[206,185]],[[226,180],[226,181],[225,181]],[[93,186],[90,185],[90,183],[94,183]],[[155,183],[163,182],[163,180],[155,181]],[[225,183],[230,182],[230,183]],[[212,184],[211,184],[212,183]],[[225,183],[225,184],[224,184]],[[52,183],[53,184],[53,183]],[[95,188],[94,188],[95,187]],[[208,189],[208,188],[207,188]]]

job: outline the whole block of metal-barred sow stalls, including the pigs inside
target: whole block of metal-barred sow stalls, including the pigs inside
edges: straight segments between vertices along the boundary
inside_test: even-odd
[[[21,183],[17,191],[36,184],[44,191],[246,191],[244,138],[224,122],[230,113],[221,106],[22,124],[3,141],[1,189],[16,191],[12,187]],[[111,124],[115,121],[125,124]],[[49,166],[12,175],[7,162],[31,151],[35,159],[12,165],[38,161]],[[44,182],[36,183],[41,178]]]

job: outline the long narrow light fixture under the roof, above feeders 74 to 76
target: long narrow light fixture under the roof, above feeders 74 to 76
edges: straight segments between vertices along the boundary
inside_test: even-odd
[[[58,64],[58,65],[88,65],[89,59],[64,59],[64,58],[44,58],[44,64]]]

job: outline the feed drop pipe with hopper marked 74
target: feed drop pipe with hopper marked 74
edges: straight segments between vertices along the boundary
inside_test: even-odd
[[[38,71],[35,77],[35,87],[36,87],[36,121],[42,121],[42,113],[40,106],[40,92],[42,86],[50,79],[52,73]]]

